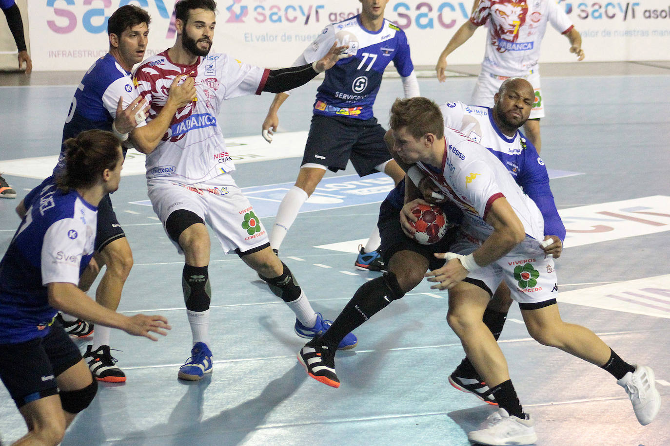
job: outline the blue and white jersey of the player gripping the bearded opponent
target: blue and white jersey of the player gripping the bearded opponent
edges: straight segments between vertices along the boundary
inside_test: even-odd
[[[63,140],[74,138],[84,130],[111,132],[119,98],[123,98],[123,108],[126,108],[137,98],[137,90],[133,87],[131,74],[107,53],[88,68],[77,86],[63,126]],[[143,125],[145,123],[141,122],[137,126]],[[63,168],[64,160],[65,150],[62,148],[54,173]]]

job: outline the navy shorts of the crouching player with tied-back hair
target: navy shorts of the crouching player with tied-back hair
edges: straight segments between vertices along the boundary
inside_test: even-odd
[[[58,393],[56,377],[82,359],[58,321],[44,338],[0,344],[0,380],[19,409]]]

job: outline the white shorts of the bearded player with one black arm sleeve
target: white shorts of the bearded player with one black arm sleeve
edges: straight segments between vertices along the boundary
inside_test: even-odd
[[[269,245],[265,227],[230,175],[216,177],[216,185],[183,185],[167,179],[150,179],[147,187],[153,211],[163,223],[163,229],[171,213],[186,209],[212,228],[226,254],[236,249],[240,253],[265,243]],[[170,241],[182,253],[178,243]]]

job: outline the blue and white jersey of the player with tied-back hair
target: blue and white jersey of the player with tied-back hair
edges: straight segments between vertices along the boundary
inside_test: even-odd
[[[34,199],[0,261],[0,344],[44,337],[56,310],[47,285],[77,285],[93,255],[98,210],[49,183]]]

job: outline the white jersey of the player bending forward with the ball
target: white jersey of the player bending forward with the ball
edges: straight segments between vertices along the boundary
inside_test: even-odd
[[[438,185],[463,211],[462,231],[484,241],[493,227],[486,214],[498,198],[506,198],[525,232],[536,240],[544,239],[544,221],[537,205],[515,183],[512,175],[494,154],[464,134],[445,127],[444,158],[441,169],[417,162],[425,175]]]

